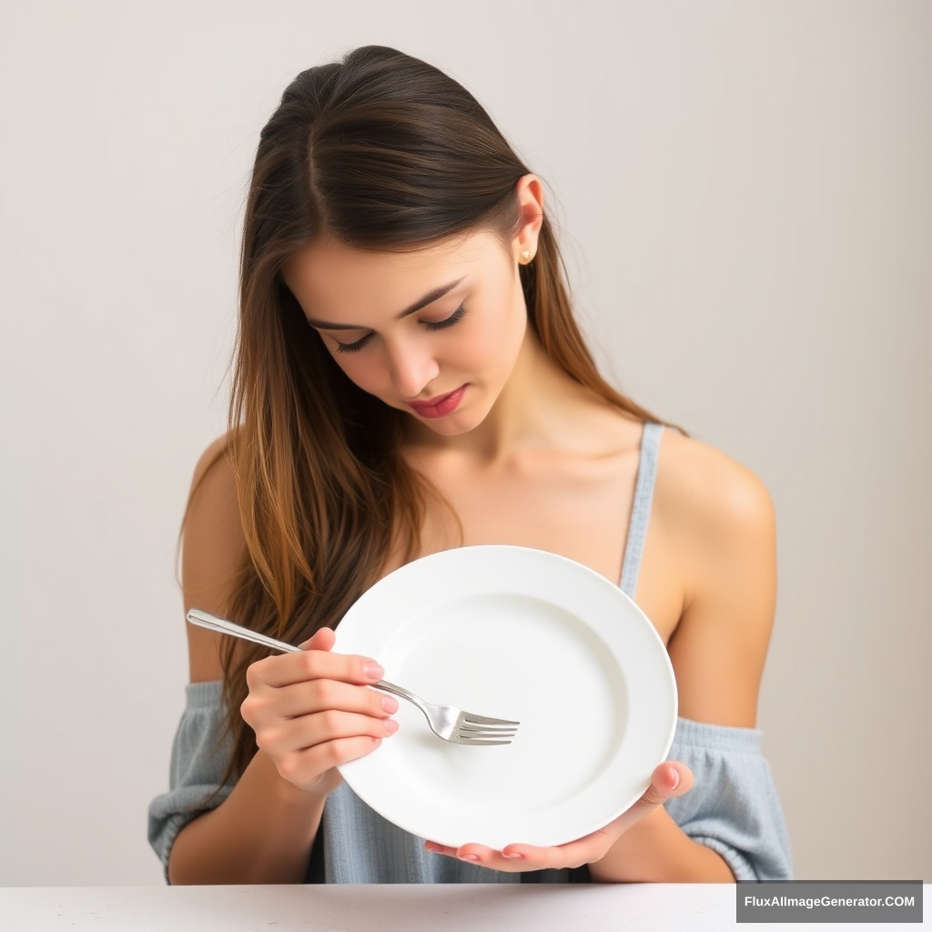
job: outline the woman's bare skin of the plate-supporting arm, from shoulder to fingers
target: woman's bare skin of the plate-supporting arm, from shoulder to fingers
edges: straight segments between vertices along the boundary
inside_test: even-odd
[[[678,624],[667,648],[679,715],[716,725],[754,727],[764,660],[774,624],[774,509],[760,480],[717,450],[667,433],[654,492],[651,532],[665,565],[678,568]],[[649,543],[650,545],[650,543]],[[650,584],[650,583],[649,583]],[[640,591],[640,590],[638,590]],[[553,848],[478,844],[430,850],[496,870],[589,865],[596,882],[728,883],[733,872],[692,841],[664,802],[692,788],[692,773],[668,761],[644,796],[604,829]]]

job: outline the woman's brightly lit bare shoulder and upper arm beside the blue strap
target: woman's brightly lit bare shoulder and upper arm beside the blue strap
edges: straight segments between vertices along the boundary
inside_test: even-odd
[[[752,726],[776,603],[773,501],[747,467],[674,432],[655,496],[685,596],[668,642],[680,715]]]

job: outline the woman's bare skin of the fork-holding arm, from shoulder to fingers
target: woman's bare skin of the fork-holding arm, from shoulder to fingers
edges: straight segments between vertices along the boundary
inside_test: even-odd
[[[185,612],[224,615],[245,554],[234,476],[226,457],[217,459],[222,443],[208,448],[195,472],[182,550]],[[223,678],[222,636],[187,629],[191,681]],[[339,783],[336,764],[369,753],[397,727],[389,719],[397,703],[364,688],[380,678],[380,668],[331,653],[333,643],[325,629],[302,645],[303,653],[250,666],[242,714],[260,749],[226,800],[178,833],[171,884],[304,880],[323,803]]]

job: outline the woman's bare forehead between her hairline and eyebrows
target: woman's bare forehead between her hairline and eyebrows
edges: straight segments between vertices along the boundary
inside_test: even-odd
[[[282,267],[305,313],[358,320],[362,312],[397,314],[433,288],[500,263],[500,240],[476,233],[405,252],[353,249],[335,240],[312,243]]]

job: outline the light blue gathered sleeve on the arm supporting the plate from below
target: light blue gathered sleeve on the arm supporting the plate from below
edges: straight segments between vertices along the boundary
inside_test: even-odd
[[[723,857],[737,880],[792,876],[787,828],[761,731],[680,719],[669,760],[692,769],[693,788],[666,803],[680,829]]]

